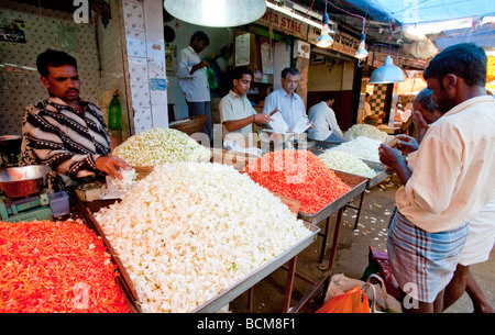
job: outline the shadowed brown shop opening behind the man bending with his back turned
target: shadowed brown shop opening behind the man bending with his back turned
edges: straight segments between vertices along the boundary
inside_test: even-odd
[[[308,75],[308,111],[326,93],[333,93],[333,111],[342,131],[352,126],[352,87],[355,63],[334,57],[312,56]]]

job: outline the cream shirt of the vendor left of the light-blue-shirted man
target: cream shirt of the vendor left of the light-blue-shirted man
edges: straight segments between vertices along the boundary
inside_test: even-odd
[[[250,100],[246,96],[239,96],[232,90],[229,94],[222,98],[219,103],[220,110],[220,122],[223,124],[226,121],[241,120],[251,115],[255,115],[256,111],[251,105]],[[249,124],[238,131],[229,132],[226,126],[223,126],[223,134],[228,133],[241,133],[248,136],[253,132],[253,125]],[[226,136],[227,137],[227,136]]]

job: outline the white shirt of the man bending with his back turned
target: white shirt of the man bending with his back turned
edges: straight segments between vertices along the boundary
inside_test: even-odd
[[[337,123],[336,113],[324,101],[309,109],[309,120],[315,124],[311,130],[308,130],[308,137],[311,139],[324,141],[333,132],[343,136]]]

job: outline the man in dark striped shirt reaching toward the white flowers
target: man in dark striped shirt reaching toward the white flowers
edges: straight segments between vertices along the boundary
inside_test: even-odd
[[[105,178],[121,179],[130,169],[110,155],[110,137],[101,110],[79,98],[77,62],[58,51],[37,56],[37,71],[50,98],[26,107],[22,119],[21,165],[48,165],[54,190]]]

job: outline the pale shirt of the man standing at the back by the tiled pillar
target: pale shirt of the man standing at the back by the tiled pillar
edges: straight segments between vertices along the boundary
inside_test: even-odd
[[[210,89],[206,69],[200,68],[193,75],[190,69],[200,63],[199,54],[190,46],[183,48],[177,55],[177,78],[180,88],[189,102],[210,101]]]

